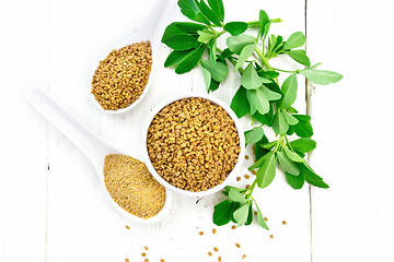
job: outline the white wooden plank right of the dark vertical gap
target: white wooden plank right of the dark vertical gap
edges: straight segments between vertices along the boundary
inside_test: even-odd
[[[394,56],[375,41],[394,39],[390,10],[387,1],[308,1],[308,52],[344,74],[336,85],[311,86],[311,162],[331,186],[312,190],[313,261],[394,260]]]

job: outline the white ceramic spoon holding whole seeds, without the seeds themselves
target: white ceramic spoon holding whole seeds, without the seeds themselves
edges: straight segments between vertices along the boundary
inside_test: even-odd
[[[147,17],[146,17],[144,23],[139,27],[139,29],[136,32],[136,34],[132,35],[131,38],[129,38],[128,40],[123,43],[120,46],[114,48],[114,49],[120,49],[125,46],[132,45],[135,43],[147,41],[147,40],[150,41],[151,47],[152,47],[153,63],[152,63],[151,72],[149,74],[148,84],[146,85],[141,96],[128,107],[120,108],[117,110],[104,110],[103,107],[94,98],[94,95],[90,94],[90,97],[93,100],[93,104],[100,110],[108,112],[108,114],[121,114],[121,112],[126,112],[126,111],[132,109],[143,99],[143,97],[148,93],[149,87],[151,85],[151,81],[153,78],[152,75],[154,75],[155,68],[158,66],[162,66],[162,64],[158,64],[158,59],[157,59],[158,51],[160,48],[161,37],[164,33],[164,29],[169,24],[170,17],[174,14],[174,10],[176,8],[176,2],[177,2],[176,0],[155,0],[151,10],[149,12],[147,12]],[[100,59],[99,61],[104,60],[104,58]],[[99,66],[99,61],[97,61],[95,68],[92,70],[89,90],[92,88],[91,82],[93,79],[94,71],[96,70],[96,68]]]

